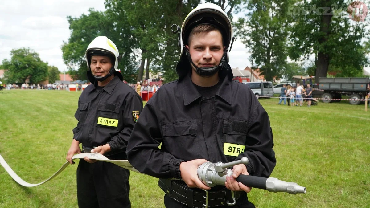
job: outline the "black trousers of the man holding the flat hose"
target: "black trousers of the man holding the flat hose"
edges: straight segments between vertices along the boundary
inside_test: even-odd
[[[119,159],[117,156],[112,155],[108,158],[117,160]],[[129,170],[110,162],[97,161],[90,164],[80,159],[77,167],[78,207],[131,208],[131,202],[128,198],[130,192],[129,176]]]

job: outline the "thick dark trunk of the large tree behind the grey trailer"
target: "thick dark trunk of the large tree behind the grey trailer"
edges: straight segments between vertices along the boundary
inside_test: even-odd
[[[327,37],[330,34],[330,22],[332,21],[332,9],[329,7],[329,15],[322,15],[321,24],[320,24],[320,33],[324,33],[325,35],[319,39],[319,45],[325,47],[325,43],[327,41]],[[322,50],[322,49],[321,49]],[[320,77],[326,77],[327,70],[329,68],[330,63],[330,56],[329,54],[325,53],[324,51],[320,51],[317,53],[317,68],[316,68],[316,77],[315,83],[319,83]]]

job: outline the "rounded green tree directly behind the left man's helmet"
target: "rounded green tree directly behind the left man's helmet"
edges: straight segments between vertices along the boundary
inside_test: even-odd
[[[90,9],[88,15],[83,14],[79,18],[67,17],[71,37],[62,46],[64,63],[68,67],[68,73],[75,80],[86,80],[85,51],[88,44],[97,36],[107,36],[120,52],[118,68],[121,69],[124,80],[134,83],[137,61],[133,51],[135,42],[132,39],[131,28],[125,21],[127,18],[122,17],[122,21],[115,21],[114,16],[118,14],[112,14],[108,10],[100,12]]]

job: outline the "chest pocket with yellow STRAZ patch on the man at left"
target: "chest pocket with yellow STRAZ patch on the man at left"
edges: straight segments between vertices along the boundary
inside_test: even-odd
[[[95,126],[103,128],[118,129],[120,120],[120,106],[112,103],[99,103],[97,112],[97,123]]]

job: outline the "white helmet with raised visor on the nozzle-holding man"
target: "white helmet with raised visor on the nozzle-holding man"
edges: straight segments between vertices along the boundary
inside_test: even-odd
[[[233,43],[232,25],[227,14],[217,4],[203,3],[193,9],[188,16],[185,17],[180,31],[180,59],[185,50],[185,45],[188,43],[188,37],[191,30],[199,24],[212,24],[221,31],[223,37],[223,45],[226,46],[226,62],[229,62],[229,51]]]

